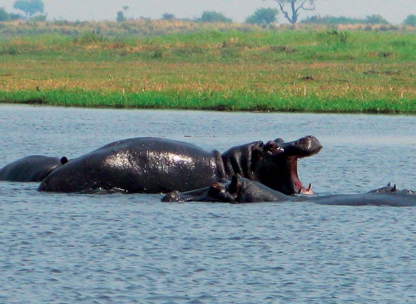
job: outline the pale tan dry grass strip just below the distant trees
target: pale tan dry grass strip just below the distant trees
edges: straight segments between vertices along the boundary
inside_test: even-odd
[[[253,32],[281,31],[281,30],[374,30],[374,31],[415,31],[415,27],[397,26],[393,24],[324,24],[324,23],[299,23],[299,24],[249,24],[234,22],[196,22],[185,20],[125,20],[116,21],[33,21],[13,20],[0,22],[1,39],[36,36],[43,34],[56,34],[70,37],[84,37],[94,40],[106,37],[154,37],[171,35],[176,33],[194,33],[199,31],[236,31]],[[0,39],[0,40],[1,40]]]

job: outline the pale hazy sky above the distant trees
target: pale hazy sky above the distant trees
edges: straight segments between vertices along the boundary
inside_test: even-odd
[[[17,12],[13,10],[14,1],[0,0],[0,7]],[[203,11],[218,11],[234,21],[244,21],[259,7],[277,7],[274,0],[44,0],[44,3],[48,20],[115,20],[116,12],[127,5],[128,18],[159,19],[163,13],[194,18]],[[392,23],[401,23],[407,15],[416,15],[416,0],[316,0],[316,10],[303,12],[300,18],[315,14],[355,18],[378,14]],[[279,22],[285,22],[282,14]]]

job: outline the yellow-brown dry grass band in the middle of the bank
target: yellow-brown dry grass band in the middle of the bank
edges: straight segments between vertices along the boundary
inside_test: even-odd
[[[152,62],[11,62],[0,64],[0,90],[263,91],[283,96],[416,99],[412,71],[400,64],[334,62],[241,64]],[[36,66],[36,67],[35,67]],[[370,72],[369,72],[370,71]],[[392,72],[393,71],[393,72]],[[397,72],[400,71],[400,72]],[[367,73],[366,73],[367,72]],[[302,77],[312,75],[313,80]],[[399,85],[398,85],[399,83]]]

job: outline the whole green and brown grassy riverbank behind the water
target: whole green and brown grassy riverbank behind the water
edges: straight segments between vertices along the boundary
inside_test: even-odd
[[[410,29],[189,25],[163,34],[157,25],[151,37],[89,28],[0,40],[0,101],[416,113],[416,35]]]

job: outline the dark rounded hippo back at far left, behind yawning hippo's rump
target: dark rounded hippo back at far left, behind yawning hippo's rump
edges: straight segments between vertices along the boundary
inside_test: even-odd
[[[66,157],[30,155],[0,169],[0,181],[41,182],[50,172],[68,162]]]

